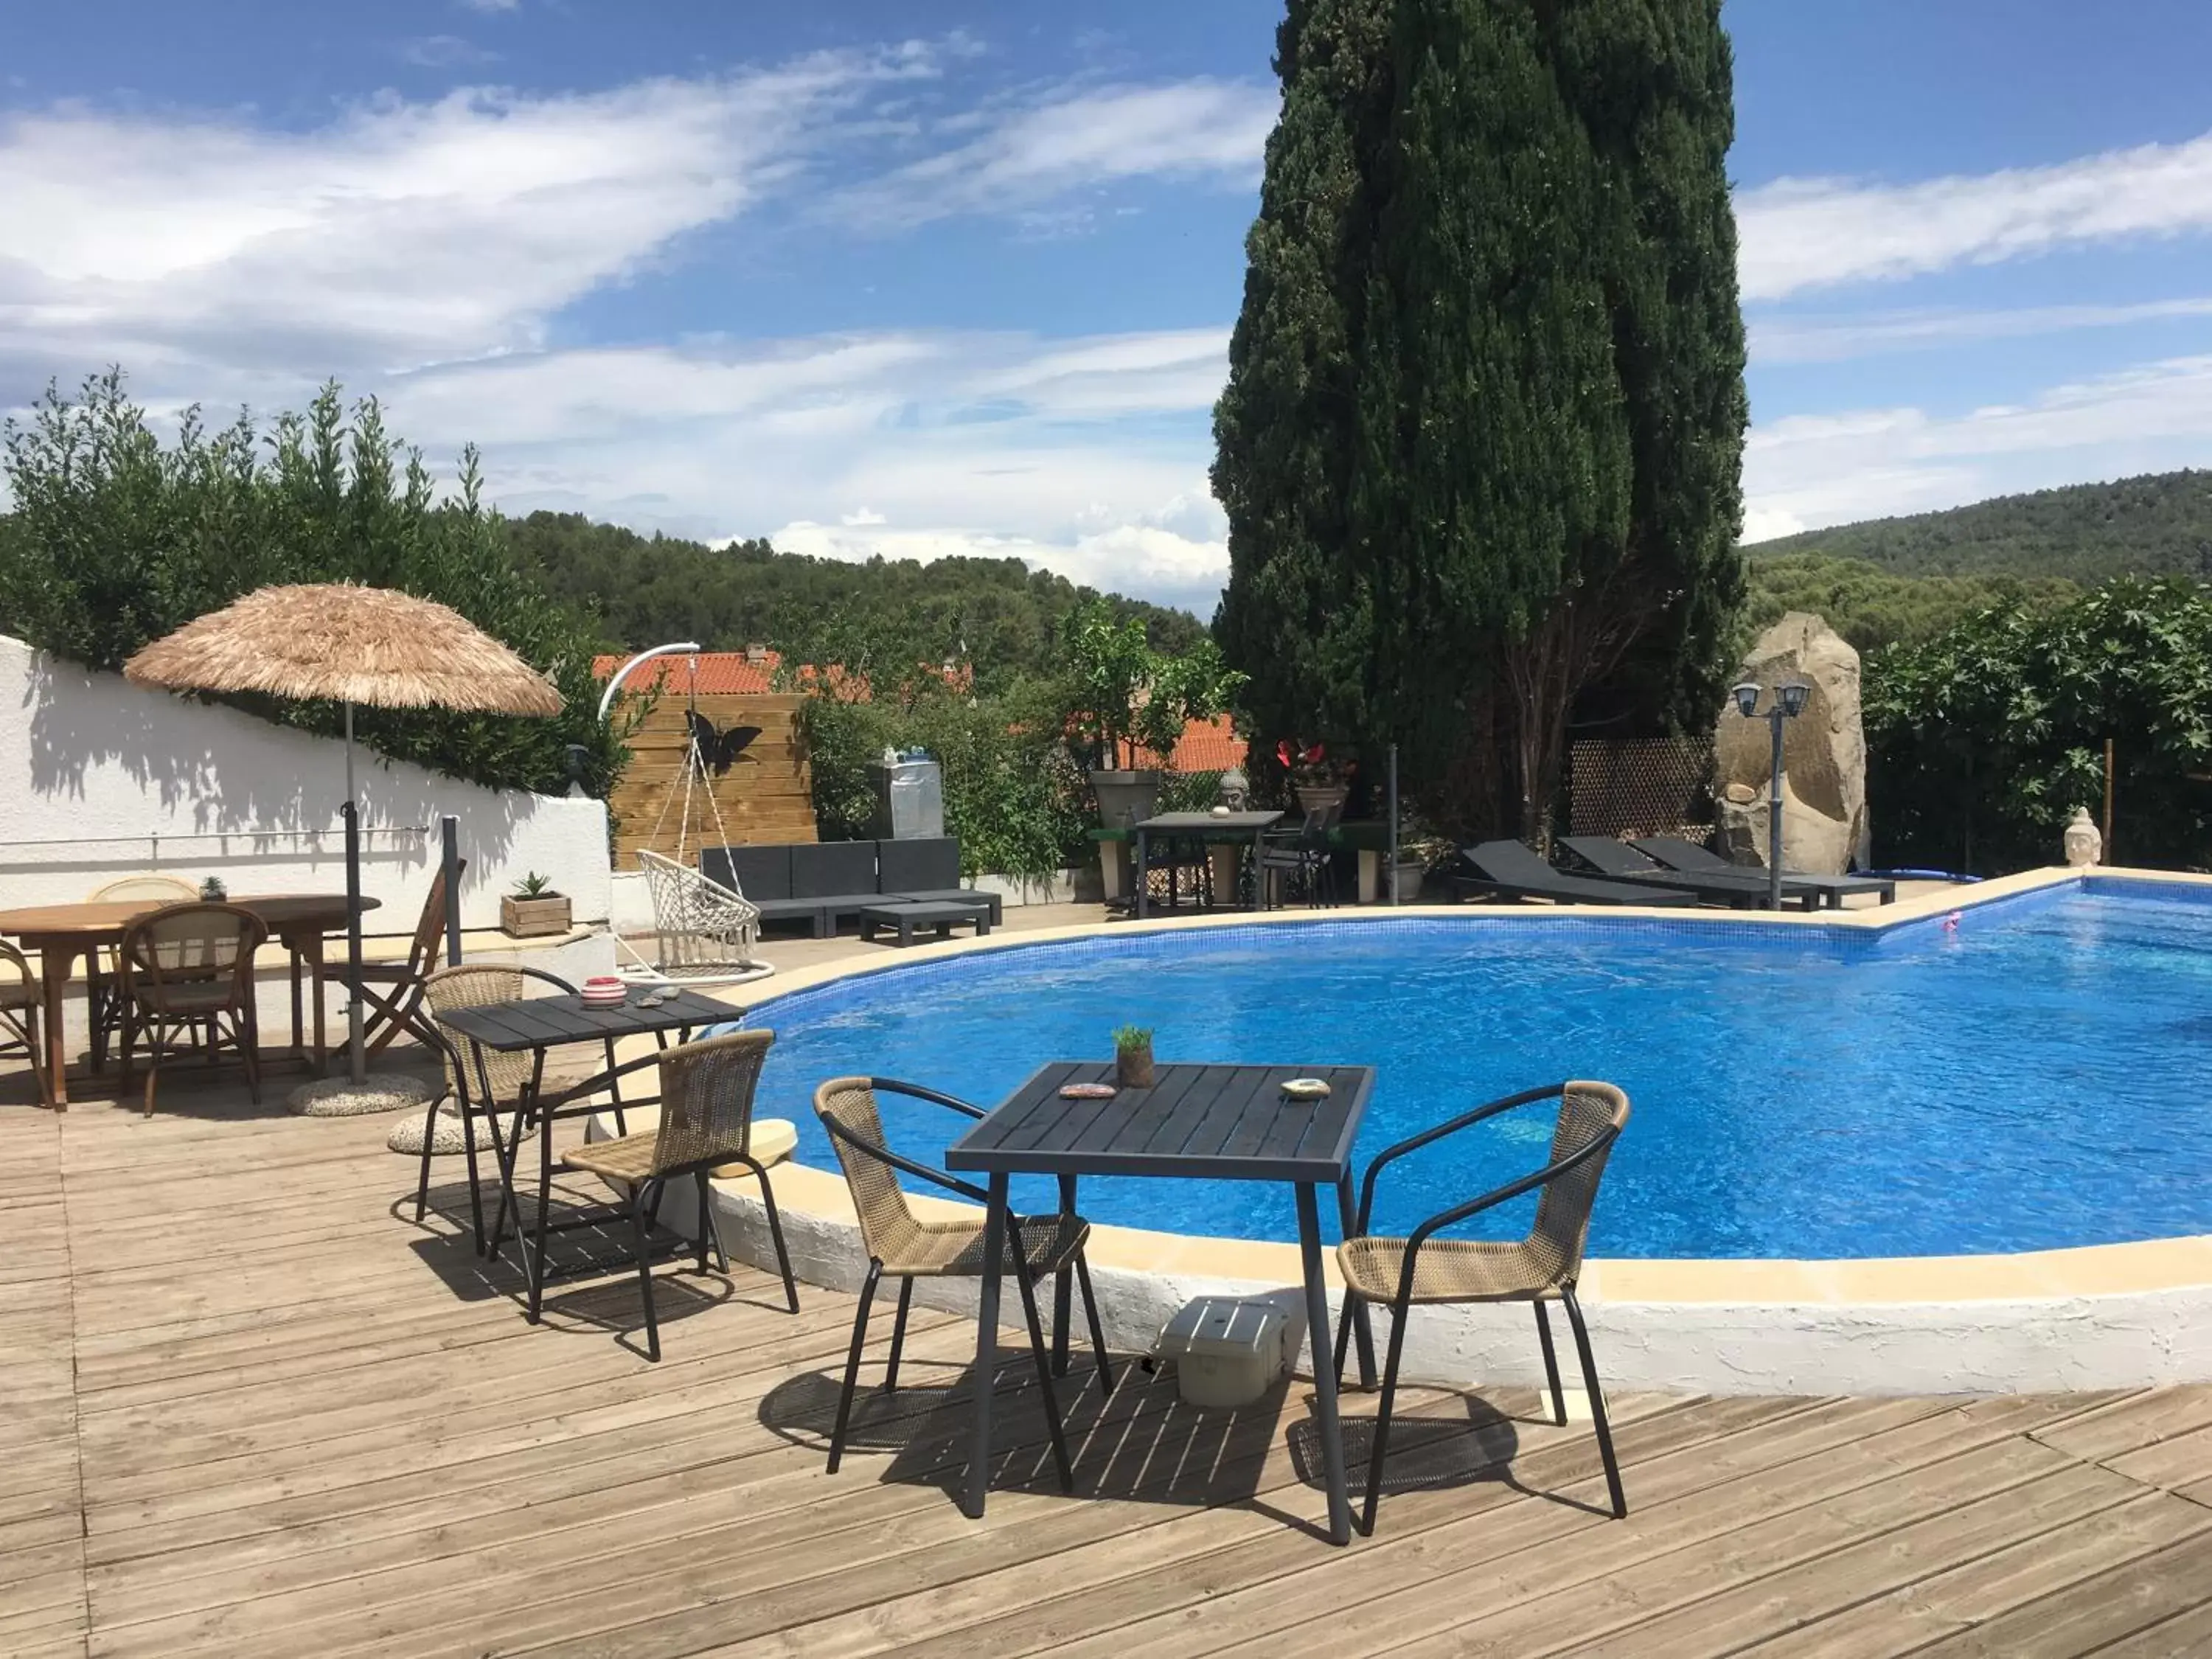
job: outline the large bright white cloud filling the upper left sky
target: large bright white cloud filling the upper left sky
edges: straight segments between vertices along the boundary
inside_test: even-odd
[[[307,133],[0,117],[0,403],[115,358],[208,365],[195,389],[217,394],[226,372],[535,345],[553,312],[787,181],[841,111],[929,69],[900,46],[588,95],[465,88]]]

